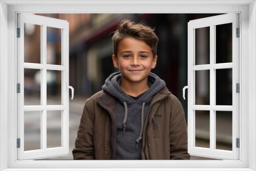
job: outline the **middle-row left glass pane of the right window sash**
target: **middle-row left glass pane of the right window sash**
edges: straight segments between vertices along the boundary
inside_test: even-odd
[[[195,71],[196,74],[196,104],[209,105],[210,104],[210,71],[200,70]]]

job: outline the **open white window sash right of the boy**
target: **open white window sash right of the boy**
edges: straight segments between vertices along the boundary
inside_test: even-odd
[[[229,13],[212,17],[190,20],[188,23],[188,153],[190,155],[211,157],[216,159],[239,159],[239,148],[236,138],[239,137],[239,93],[236,93],[236,83],[239,83],[239,38],[236,28],[239,28],[239,14]],[[215,27],[216,25],[232,23],[232,62],[215,63]],[[195,65],[195,29],[210,27],[210,63]],[[216,99],[216,69],[232,68],[232,105],[215,105]],[[209,105],[195,104],[195,71],[209,70]],[[209,141],[210,147],[195,146],[196,119],[195,111],[209,111]],[[232,111],[232,151],[216,149],[216,113],[215,111]]]

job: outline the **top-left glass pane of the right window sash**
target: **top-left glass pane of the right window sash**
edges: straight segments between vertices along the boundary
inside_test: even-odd
[[[210,27],[195,29],[196,65],[210,63]]]

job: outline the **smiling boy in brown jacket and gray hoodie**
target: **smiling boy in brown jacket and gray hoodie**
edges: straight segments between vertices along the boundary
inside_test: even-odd
[[[119,72],[86,101],[74,159],[189,159],[182,105],[151,73],[157,63],[154,30],[123,20],[112,41]]]

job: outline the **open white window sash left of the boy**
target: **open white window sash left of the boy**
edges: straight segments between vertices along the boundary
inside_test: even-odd
[[[17,38],[17,82],[20,82],[20,93],[17,94],[17,138],[20,138],[20,148],[17,148],[17,159],[41,159],[63,156],[69,153],[69,51],[68,51],[68,22],[65,20],[44,17],[29,13],[20,13],[17,18],[17,27],[20,28],[20,37]],[[24,62],[24,24],[39,25],[41,28],[41,63]],[[47,27],[61,29],[61,65],[47,64]],[[65,48],[63,48],[65,47]],[[40,70],[40,105],[24,105],[24,69]],[[47,70],[61,71],[61,105],[47,105]],[[61,111],[61,146],[47,148],[47,111]],[[24,112],[40,112],[40,149],[24,150]]]

